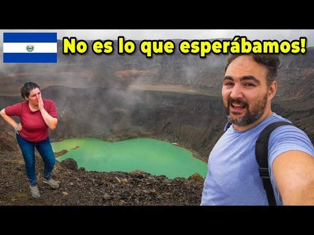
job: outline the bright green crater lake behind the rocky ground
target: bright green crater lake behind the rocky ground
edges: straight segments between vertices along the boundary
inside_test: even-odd
[[[98,139],[69,139],[52,142],[52,149],[53,152],[69,151],[58,157],[58,162],[72,158],[78,167],[86,170],[130,172],[139,169],[169,179],[188,178],[196,172],[203,178],[207,175],[205,162],[166,141],[138,138],[111,143]]]

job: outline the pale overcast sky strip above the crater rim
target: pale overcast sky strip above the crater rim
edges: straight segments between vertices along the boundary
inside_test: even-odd
[[[314,46],[314,29],[0,29],[0,32],[57,32],[57,38],[77,37],[78,40],[144,39],[214,39],[247,36],[249,40],[288,41],[307,37],[307,47]],[[3,42],[3,34],[0,38]]]

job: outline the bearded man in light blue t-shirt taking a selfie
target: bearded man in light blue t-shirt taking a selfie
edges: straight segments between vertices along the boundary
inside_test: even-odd
[[[268,205],[255,141],[275,121],[278,55],[232,55],[225,67],[222,99],[232,125],[213,147],[201,205]],[[314,205],[314,147],[295,126],[276,128],[268,144],[268,164],[277,205]]]

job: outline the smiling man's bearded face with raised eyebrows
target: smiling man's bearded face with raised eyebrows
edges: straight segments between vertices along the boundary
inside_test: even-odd
[[[262,117],[268,101],[266,74],[266,68],[250,56],[239,56],[229,65],[222,99],[230,122],[247,126]]]

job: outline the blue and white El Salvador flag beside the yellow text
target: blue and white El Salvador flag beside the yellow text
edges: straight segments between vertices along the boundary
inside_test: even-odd
[[[3,63],[57,63],[57,33],[3,33]]]

